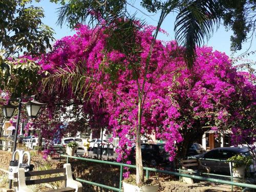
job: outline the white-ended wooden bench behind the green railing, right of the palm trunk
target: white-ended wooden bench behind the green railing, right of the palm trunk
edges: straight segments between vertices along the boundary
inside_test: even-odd
[[[196,172],[193,174],[200,175],[201,172],[203,173],[210,173],[210,167],[203,166],[200,159],[187,159],[181,160],[181,167],[180,171],[182,173],[191,174],[191,172]],[[188,184],[194,184],[193,179],[182,177],[183,182]]]

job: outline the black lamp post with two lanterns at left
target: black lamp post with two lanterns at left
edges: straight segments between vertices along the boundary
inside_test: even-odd
[[[46,105],[45,103],[40,103],[40,102],[36,101],[34,99],[34,97],[35,96],[24,97],[25,99],[33,98],[32,101],[28,101],[25,103],[22,102],[23,97],[17,98],[17,100],[18,100],[18,116],[17,116],[17,122],[16,122],[16,130],[15,130],[15,136],[14,136],[14,146],[13,146],[12,156],[13,156],[14,152],[16,151],[18,125],[19,125],[19,119],[20,119],[20,111],[22,110],[22,104],[24,104],[26,106],[28,116],[30,118],[35,118],[36,115],[38,114],[38,112],[40,111],[41,106]],[[10,103],[8,103],[7,105],[3,105],[1,108],[3,110],[4,116],[6,118],[11,118],[16,106],[13,106]],[[9,180],[9,189],[10,188],[12,188],[12,180],[11,179]]]

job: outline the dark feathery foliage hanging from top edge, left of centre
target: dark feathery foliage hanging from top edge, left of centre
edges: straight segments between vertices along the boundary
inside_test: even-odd
[[[57,13],[57,25],[60,26],[66,22],[71,28],[86,23],[95,26],[100,20],[110,25],[127,14],[126,1],[109,0],[100,3],[95,0],[70,0],[58,8]]]

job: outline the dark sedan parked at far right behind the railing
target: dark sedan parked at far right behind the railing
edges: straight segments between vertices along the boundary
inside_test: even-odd
[[[221,173],[230,175],[230,168],[228,162],[212,161],[206,159],[218,159],[227,160],[235,155],[250,156],[250,152],[247,147],[219,147],[214,148],[204,154],[196,155],[194,157],[200,158],[202,165],[210,167],[212,173]],[[256,170],[256,162],[253,160],[253,164],[250,166],[249,172],[253,174]]]

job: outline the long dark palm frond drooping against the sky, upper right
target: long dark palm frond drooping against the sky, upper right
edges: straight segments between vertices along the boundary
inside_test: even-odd
[[[196,46],[204,44],[204,39],[210,38],[215,25],[218,26],[217,0],[185,1],[175,22],[175,38],[179,45],[185,48],[185,60],[189,68],[193,66],[196,57]]]

